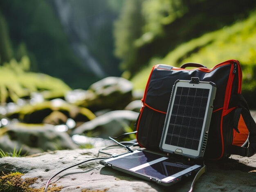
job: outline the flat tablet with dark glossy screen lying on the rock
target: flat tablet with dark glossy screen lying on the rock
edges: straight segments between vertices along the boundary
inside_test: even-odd
[[[202,166],[181,159],[172,159],[144,150],[122,154],[100,161],[111,167],[136,177],[156,182],[160,185],[173,185],[196,173]]]

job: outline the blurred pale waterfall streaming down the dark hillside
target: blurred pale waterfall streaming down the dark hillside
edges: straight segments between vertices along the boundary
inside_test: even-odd
[[[55,0],[54,5],[74,53],[82,60],[85,68],[97,77],[105,77],[106,73],[101,64],[88,50],[87,42],[92,37],[89,33],[90,27],[85,20],[83,1]]]

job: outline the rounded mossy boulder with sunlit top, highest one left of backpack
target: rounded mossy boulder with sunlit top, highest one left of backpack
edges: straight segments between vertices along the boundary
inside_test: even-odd
[[[122,77],[106,77],[92,84],[81,106],[92,111],[123,109],[132,101],[132,83]]]

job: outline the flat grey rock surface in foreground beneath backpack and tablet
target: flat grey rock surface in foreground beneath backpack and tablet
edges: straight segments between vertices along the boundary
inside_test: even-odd
[[[60,170],[97,156],[99,148],[44,152],[31,157],[4,157],[0,159],[0,172],[22,172],[25,178],[38,178],[32,188],[44,188],[47,180]],[[110,152],[113,152],[110,151]],[[115,150],[117,153],[123,149]],[[232,155],[225,161],[206,161],[207,173],[195,184],[196,192],[205,191],[256,191],[256,155]],[[103,167],[91,161],[62,172],[54,177],[49,187],[56,185],[61,192],[157,192],[188,191],[193,178],[170,187],[144,181],[123,172]]]

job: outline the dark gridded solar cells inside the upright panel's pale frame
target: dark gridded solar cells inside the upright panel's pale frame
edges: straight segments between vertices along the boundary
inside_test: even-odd
[[[198,150],[209,89],[177,87],[165,144]]]

